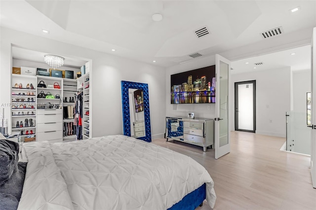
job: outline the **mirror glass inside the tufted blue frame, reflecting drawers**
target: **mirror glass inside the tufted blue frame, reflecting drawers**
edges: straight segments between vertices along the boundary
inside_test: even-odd
[[[145,137],[144,94],[140,89],[128,89],[130,131],[134,138]]]

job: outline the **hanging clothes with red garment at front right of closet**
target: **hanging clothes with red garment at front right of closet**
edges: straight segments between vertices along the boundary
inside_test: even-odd
[[[74,125],[77,125],[77,140],[82,140],[82,104],[83,94],[79,92],[76,96]]]

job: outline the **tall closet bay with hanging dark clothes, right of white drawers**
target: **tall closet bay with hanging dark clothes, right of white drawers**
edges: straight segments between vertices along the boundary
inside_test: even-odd
[[[76,139],[74,107],[77,95],[77,80],[63,79],[63,140]]]

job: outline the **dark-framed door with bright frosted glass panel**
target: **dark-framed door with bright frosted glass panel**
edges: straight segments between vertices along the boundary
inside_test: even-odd
[[[235,131],[256,132],[256,80],[235,82]]]

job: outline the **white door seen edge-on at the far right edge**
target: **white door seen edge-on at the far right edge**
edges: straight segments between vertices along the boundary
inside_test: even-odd
[[[312,37],[312,70],[311,70],[311,78],[312,78],[312,102],[311,102],[311,115],[312,115],[312,151],[311,151],[311,174],[312,174],[312,182],[313,187],[316,188],[316,28],[313,30]]]

